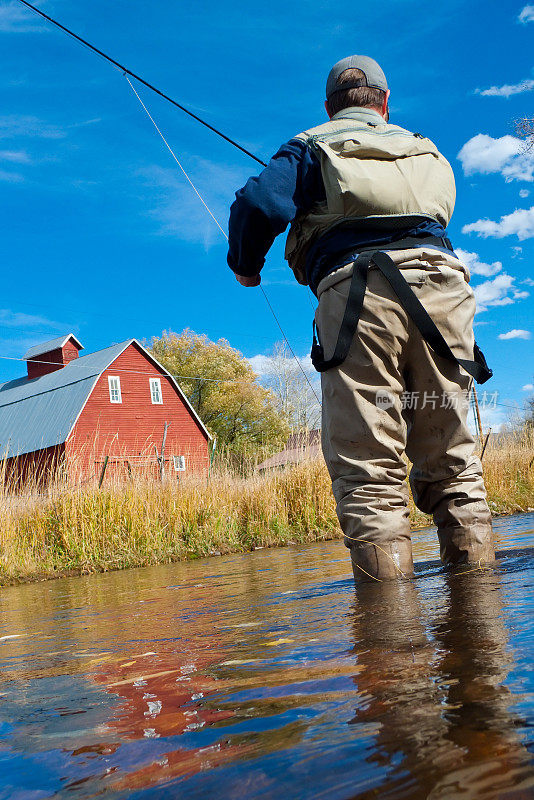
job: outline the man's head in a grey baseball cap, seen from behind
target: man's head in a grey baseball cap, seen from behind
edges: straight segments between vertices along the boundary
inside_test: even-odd
[[[329,117],[344,108],[373,108],[387,121],[389,89],[382,69],[368,56],[349,56],[334,64],[326,82]]]

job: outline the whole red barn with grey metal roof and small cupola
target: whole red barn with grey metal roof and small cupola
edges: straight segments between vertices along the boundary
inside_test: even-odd
[[[64,464],[71,483],[205,473],[210,434],[176,380],[135,339],[79,357],[73,334],[32,347],[0,385],[0,459],[20,478]],[[164,436],[164,432],[166,436]]]

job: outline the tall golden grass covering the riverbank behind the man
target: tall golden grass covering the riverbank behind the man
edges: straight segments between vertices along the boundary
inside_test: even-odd
[[[484,466],[494,514],[534,507],[532,431],[490,445]],[[0,585],[340,537],[322,461],[179,487],[132,480],[5,493],[0,504]],[[410,513],[414,527],[429,524],[413,503]]]

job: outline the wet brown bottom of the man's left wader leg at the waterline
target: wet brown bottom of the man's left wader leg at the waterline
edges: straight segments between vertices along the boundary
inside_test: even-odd
[[[413,575],[412,543],[401,539],[386,544],[359,544],[350,548],[354,580],[388,581]]]

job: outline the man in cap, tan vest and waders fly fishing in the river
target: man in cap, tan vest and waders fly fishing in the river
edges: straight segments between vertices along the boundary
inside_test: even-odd
[[[472,379],[491,370],[473,336],[469,272],[446,226],[454,175],[421,134],[389,124],[379,65],[331,70],[329,121],[292,138],[236,194],[228,264],[257,286],[275,237],[319,300],[322,446],[357,580],[413,573],[405,478],[437,525],[445,564],[493,561],[482,466],[467,428]]]

